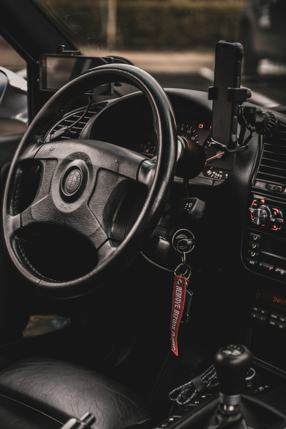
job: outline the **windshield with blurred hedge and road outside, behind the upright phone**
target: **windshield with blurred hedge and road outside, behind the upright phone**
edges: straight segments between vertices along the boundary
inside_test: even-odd
[[[208,91],[217,42],[241,42],[251,101],[286,105],[285,0],[34,2],[82,55],[128,58],[164,88]]]

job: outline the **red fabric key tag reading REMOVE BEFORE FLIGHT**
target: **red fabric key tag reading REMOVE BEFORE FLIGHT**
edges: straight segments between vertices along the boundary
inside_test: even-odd
[[[176,356],[178,356],[178,329],[185,305],[186,283],[186,277],[175,273],[171,314],[171,348]]]

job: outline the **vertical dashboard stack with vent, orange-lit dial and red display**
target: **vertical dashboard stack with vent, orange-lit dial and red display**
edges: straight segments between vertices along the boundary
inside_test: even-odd
[[[283,130],[281,129],[283,128]],[[286,413],[286,139],[285,126],[263,138],[247,198],[241,256],[250,272],[245,344],[259,374],[246,392]],[[254,293],[253,293],[254,292]]]

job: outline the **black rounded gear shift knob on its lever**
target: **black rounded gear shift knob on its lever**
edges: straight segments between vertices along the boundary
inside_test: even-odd
[[[238,405],[251,363],[250,350],[241,344],[229,344],[217,351],[214,356],[214,366],[219,380],[222,405]]]

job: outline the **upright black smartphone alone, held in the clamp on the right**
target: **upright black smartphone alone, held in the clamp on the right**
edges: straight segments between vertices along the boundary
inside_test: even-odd
[[[230,97],[229,88],[240,88],[241,43],[229,43],[224,40],[216,45],[214,87],[212,92],[213,109],[211,138],[229,149],[237,144],[238,110],[241,102]]]

